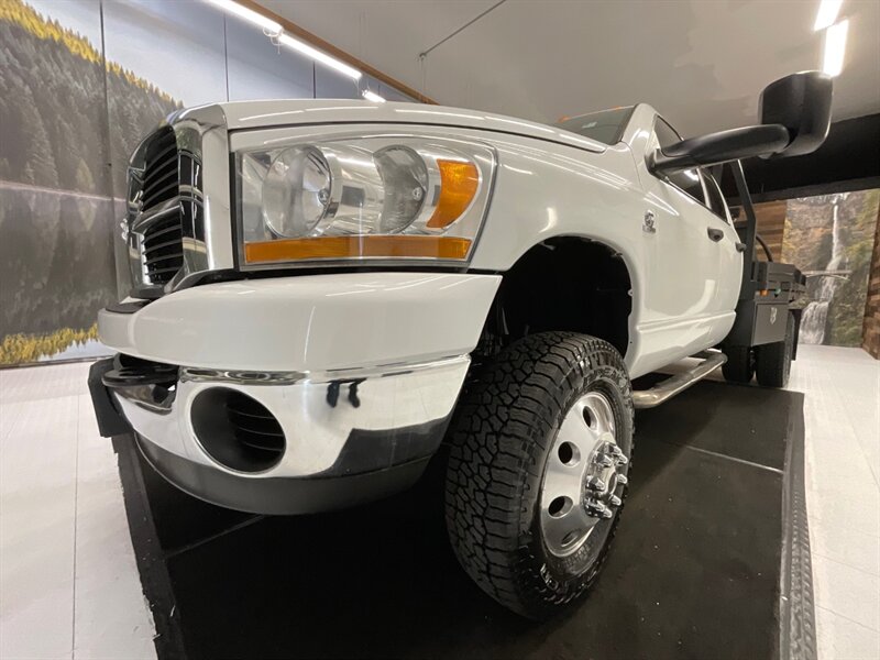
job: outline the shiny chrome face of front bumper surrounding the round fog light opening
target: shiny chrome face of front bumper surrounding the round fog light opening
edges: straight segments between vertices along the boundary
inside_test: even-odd
[[[193,376],[184,370],[174,402],[167,410],[143,403],[135,394],[114,389],[117,402],[132,429],[165,451],[194,463],[213,466],[244,479],[315,477],[388,468],[433,453],[400,442],[416,429],[443,422],[468,372],[468,356],[402,367],[395,372],[361,372],[286,378],[282,374]],[[193,427],[193,402],[210,388],[223,387],[260,402],[280,424],[286,439],[284,455],[273,468],[244,474],[215,461]],[[346,464],[354,444],[370,444],[369,455]],[[413,454],[421,454],[419,457]]]

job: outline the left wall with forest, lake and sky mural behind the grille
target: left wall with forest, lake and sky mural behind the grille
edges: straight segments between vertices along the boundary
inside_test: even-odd
[[[96,312],[127,293],[113,253],[125,163],[162,118],[365,87],[410,100],[205,2],[0,0],[0,365],[103,352]]]

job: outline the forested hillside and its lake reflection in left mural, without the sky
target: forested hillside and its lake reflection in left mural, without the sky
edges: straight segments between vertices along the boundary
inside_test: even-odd
[[[21,0],[0,0],[0,364],[101,353],[96,311],[120,294],[110,154],[180,103]]]

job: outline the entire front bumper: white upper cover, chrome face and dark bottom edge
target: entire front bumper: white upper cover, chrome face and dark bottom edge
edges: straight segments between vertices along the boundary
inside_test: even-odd
[[[265,514],[339,508],[421,474],[498,280],[387,273],[196,287],[133,314],[102,310],[102,341],[140,360],[96,364],[92,380],[182,490]],[[169,376],[163,363],[182,366]]]

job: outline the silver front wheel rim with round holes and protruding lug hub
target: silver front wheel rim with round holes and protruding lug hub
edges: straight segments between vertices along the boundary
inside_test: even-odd
[[[541,483],[541,530],[552,554],[568,557],[607,530],[603,522],[620,506],[628,463],[610,403],[602,393],[585,394],[562,420]]]

